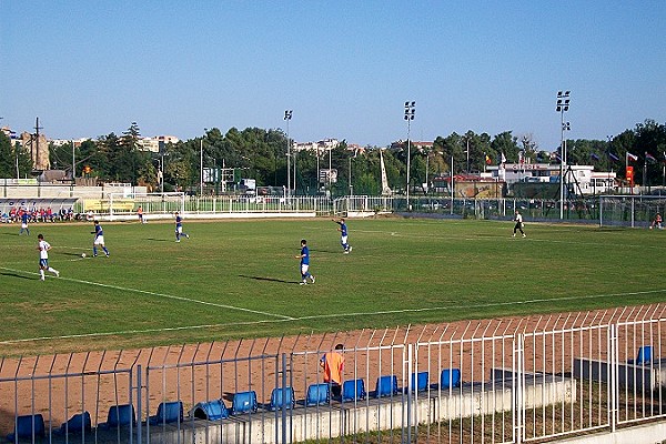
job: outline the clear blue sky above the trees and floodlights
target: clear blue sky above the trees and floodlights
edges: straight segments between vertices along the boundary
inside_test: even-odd
[[[383,147],[666,122],[664,1],[1,0],[0,121],[54,139],[285,128]]]

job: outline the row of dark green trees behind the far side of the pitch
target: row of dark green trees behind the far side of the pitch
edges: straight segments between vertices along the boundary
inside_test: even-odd
[[[159,172],[163,171],[164,191],[199,191],[201,167],[204,169],[235,168],[243,178],[255,179],[258,186],[285,186],[287,181],[287,138],[281,129],[246,128],[242,131],[231,128],[226,133],[213,128],[201,137],[169,143],[159,153],[140,149],[139,125],[132,122],[122,134],[110,133],[97,140],[87,140],[74,148],[75,175],[91,175],[107,182],[124,182],[145,185],[151,191],[160,186]],[[451,173],[451,159],[454,174],[477,173],[484,168],[502,162],[559,161],[559,148],[555,153],[539,150],[531,135],[521,138],[512,131],[494,137],[488,133],[467,131],[437,137],[432,147],[411,147],[406,142],[397,148],[383,150],[389,184],[393,190],[404,190],[406,182],[407,151],[411,151],[410,179],[412,186],[421,186],[437,175]],[[203,164],[201,154],[203,153]],[[314,194],[321,191],[320,169],[329,168],[327,151],[291,150],[292,169],[295,162],[295,181],[299,194]],[[593,164],[597,171],[615,171],[624,176],[627,153],[636,155],[630,164],[636,170],[636,183],[662,185],[666,162],[666,125],[654,120],[645,120],[634,129],[607,140],[566,140],[568,164]],[[633,159],[633,157],[630,157]],[[52,168],[71,169],[72,145],[50,147]],[[163,165],[162,165],[163,162]],[[380,149],[365,147],[361,152],[350,150],[346,141],[330,152],[332,169],[337,170],[337,182],[331,186],[333,195],[379,194],[381,192]],[[18,167],[17,167],[18,165]],[[643,168],[646,169],[646,183],[643,183]],[[0,176],[21,178],[32,173],[30,153],[0,132]],[[292,173],[291,171],[290,173]],[[292,179],[293,180],[293,179]],[[327,184],[326,184],[327,185]],[[208,184],[209,190],[213,190]],[[214,186],[214,185],[212,185]],[[206,191],[208,192],[208,191]]]

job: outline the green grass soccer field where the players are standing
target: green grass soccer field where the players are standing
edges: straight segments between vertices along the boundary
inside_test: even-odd
[[[512,222],[329,219],[0,226],[0,354],[281,336],[666,301],[666,232]],[[39,281],[37,234],[61,276]],[[300,240],[313,285],[299,285]],[[81,259],[81,253],[88,258]],[[49,275],[47,273],[47,275]]]

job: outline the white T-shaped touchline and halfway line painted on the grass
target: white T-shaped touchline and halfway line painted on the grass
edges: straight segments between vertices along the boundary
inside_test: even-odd
[[[1,268],[1,266],[0,266],[0,270],[9,270],[9,271],[13,271],[13,272],[19,272],[16,270],[6,269],[6,268]],[[19,273],[21,273],[21,272],[19,272]],[[37,274],[37,273],[29,273],[29,274]],[[59,278],[59,279],[63,279],[63,278]],[[159,293],[147,292],[143,290],[122,289],[122,287],[114,286],[114,285],[98,284],[98,283],[93,283],[93,282],[79,281],[79,280],[74,280],[74,279],[69,279],[69,280],[74,281],[74,282],[80,282],[80,283],[89,283],[92,285],[104,286],[104,287],[121,289],[121,290],[125,290],[125,291],[135,291],[139,293],[152,294],[152,295],[158,295],[158,296],[163,296],[163,297],[205,303],[209,305],[218,305],[218,304],[213,304],[213,303],[190,300],[186,297],[169,296],[169,295],[163,295],[163,294],[159,294]],[[248,312],[252,312],[252,313],[266,314],[269,316],[279,317],[279,319],[225,322],[225,323],[221,323],[221,324],[186,325],[186,326],[179,326],[179,327],[124,330],[124,331],[105,332],[105,333],[85,333],[85,334],[71,334],[71,335],[62,335],[62,336],[28,337],[28,339],[22,339],[22,340],[0,341],[0,344],[17,344],[17,343],[24,343],[24,342],[65,340],[65,339],[75,339],[75,337],[102,337],[102,336],[112,336],[112,335],[160,333],[160,332],[173,332],[173,331],[186,331],[186,330],[202,330],[202,329],[211,329],[211,327],[231,327],[231,326],[238,326],[238,325],[274,324],[274,323],[283,323],[283,322],[299,322],[299,321],[311,321],[311,320],[317,320],[317,319],[332,319],[332,317],[376,316],[376,315],[383,315],[383,314],[470,310],[470,309],[481,309],[481,307],[490,307],[490,306],[527,305],[527,304],[539,304],[539,303],[544,303],[544,302],[591,300],[591,299],[605,299],[605,297],[617,297],[617,296],[636,296],[636,295],[659,294],[659,293],[666,293],[666,289],[645,290],[645,291],[627,292],[627,293],[589,294],[586,296],[578,295],[578,296],[562,296],[562,297],[543,297],[543,299],[533,299],[533,300],[514,301],[514,302],[488,302],[486,304],[472,304],[472,305],[465,304],[465,305],[447,305],[447,306],[426,306],[426,307],[420,307],[420,309],[417,307],[417,309],[403,309],[403,310],[384,310],[384,311],[374,311],[374,312],[329,313],[329,314],[315,314],[315,315],[311,315],[311,316],[300,316],[300,317],[290,317],[290,316],[284,316],[284,315],[262,313],[259,311],[233,307],[233,306],[228,306],[228,305],[219,305],[219,306],[228,306],[233,310],[241,310],[241,311],[248,311]]]

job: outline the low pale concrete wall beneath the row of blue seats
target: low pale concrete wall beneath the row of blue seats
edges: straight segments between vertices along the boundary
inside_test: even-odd
[[[575,402],[575,380],[572,379],[528,375],[525,384],[526,407]],[[431,390],[417,393],[412,403],[411,418],[407,418],[405,394],[356,403],[333,402],[320,407],[296,407],[286,413],[287,424],[291,425],[287,440],[290,436],[293,442],[327,440],[373,431],[394,431],[400,434],[401,430],[406,431],[407,425],[455,421],[511,410],[511,385],[496,381],[485,383],[482,390],[481,383],[463,384],[451,392]],[[144,430],[145,432],[148,431]],[[281,434],[282,412],[259,411],[252,415],[215,422],[185,420],[180,430],[174,425],[151,426],[150,436],[147,435],[144,442],[273,444],[281,441]]]

